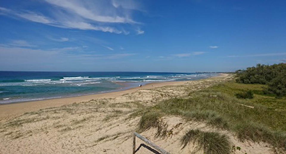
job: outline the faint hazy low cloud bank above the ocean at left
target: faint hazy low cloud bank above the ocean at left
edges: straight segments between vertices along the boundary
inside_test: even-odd
[[[119,53],[119,54],[95,54],[89,52],[85,54],[80,51],[80,47],[65,47],[53,49],[30,49],[23,47],[4,47],[0,46],[0,64],[9,63],[10,60],[15,60],[18,63],[40,63],[55,61],[60,63],[69,63],[69,60],[77,62],[79,60],[95,60],[95,59],[119,59],[135,55],[134,53]],[[31,58],[32,57],[32,58]]]

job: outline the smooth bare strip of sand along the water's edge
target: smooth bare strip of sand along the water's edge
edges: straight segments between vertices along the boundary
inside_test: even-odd
[[[227,74],[219,74],[215,77],[208,77],[200,80],[206,80],[210,78],[223,77]],[[102,99],[102,98],[114,98],[121,96],[123,94],[133,93],[140,89],[150,89],[157,88],[162,86],[172,86],[172,85],[181,85],[188,83],[193,80],[184,80],[184,81],[167,81],[167,82],[157,82],[157,83],[147,83],[142,87],[133,87],[122,91],[114,91],[100,94],[91,94],[91,95],[82,95],[75,97],[64,97],[64,98],[52,98],[36,101],[27,101],[27,102],[15,102],[10,104],[1,104],[0,105],[0,121],[13,118],[15,116],[21,115],[26,112],[31,112],[35,110],[40,110],[43,108],[49,107],[59,107],[66,104],[71,104],[74,102],[86,102],[91,99]]]

